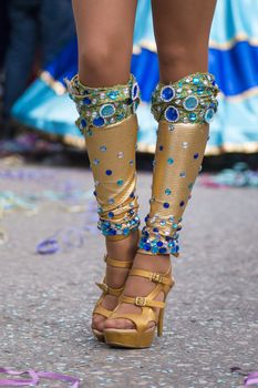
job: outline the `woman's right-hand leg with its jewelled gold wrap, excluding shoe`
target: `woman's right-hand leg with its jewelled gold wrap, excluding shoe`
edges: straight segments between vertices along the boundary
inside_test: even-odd
[[[215,86],[210,79],[196,76],[198,88],[192,89],[192,79],[182,84],[173,84],[174,81],[195,72],[207,72],[208,37],[214,14],[215,0],[153,0],[154,29],[157,42],[157,51],[161,68],[161,82],[173,88],[164,90],[164,99],[169,101],[164,106],[159,99],[162,86],[153,94],[153,113],[159,121],[151,210],[146,218],[146,226],[142,234],[141,249],[134,258],[133,268],[142,268],[154,273],[165,273],[169,267],[169,254],[177,255],[178,245],[174,238],[180,228],[179,221],[189,197],[190,188],[199,170],[205,144],[208,136],[208,124],[202,119],[196,124],[186,118],[175,116],[184,110],[183,101],[186,96],[196,95],[198,89],[199,104],[205,104],[207,110],[215,99]],[[203,81],[205,84],[203,84]],[[188,84],[189,82],[189,84]],[[186,84],[186,86],[185,86]],[[188,88],[189,85],[189,88]],[[177,88],[175,90],[175,88]],[[206,93],[208,90],[208,94]],[[175,93],[175,95],[173,95]],[[210,95],[209,95],[210,93]],[[158,95],[157,95],[158,94]],[[206,95],[207,94],[207,95]],[[175,99],[176,98],[176,99]],[[215,99],[216,100],[216,99]],[[188,100],[190,118],[200,119],[193,110],[196,99]],[[214,111],[216,102],[213,100]],[[165,102],[166,104],[166,102]],[[167,123],[167,118],[174,122]],[[187,105],[186,104],[186,105]],[[210,111],[210,114],[213,112]],[[202,113],[203,114],[203,113]],[[180,119],[180,120],[179,120]],[[178,122],[178,124],[177,124]],[[183,122],[183,123],[182,123]],[[128,276],[124,295],[136,297],[148,295],[156,285],[140,276]],[[162,300],[161,293],[156,300]],[[142,308],[132,304],[122,303],[115,313],[141,313]],[[154,323],[149,323],[152,327]],[[128,319],[107,319],[105,328],[133,328],[134,324]]]

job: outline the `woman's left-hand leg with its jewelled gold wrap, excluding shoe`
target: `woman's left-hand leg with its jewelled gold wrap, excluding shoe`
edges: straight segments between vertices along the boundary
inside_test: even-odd
[[[106,235],[107,256],[120,261],[132,261],[137,246],[137,121],[133,113],[138,89],[130,75],[135,8],[136,0],[73,0],[79,75],[69,85],[70,95],[86,140],[99,202],[99,227]],[[116,239],[116,235],[127,238]],[[127,272],[107,265],[104,283],[120,288]],[[112,310],[117,297],[110,295],[112,290],[107,294],[101,308]],[[101,331],[104,320],[104,315],[94,314],[93,327]]]

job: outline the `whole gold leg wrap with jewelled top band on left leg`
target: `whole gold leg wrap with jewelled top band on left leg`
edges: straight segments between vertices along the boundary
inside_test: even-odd
[[[69,83],[85,135],[99,203],[99,228],[109,239],[126,237],[140,224],[135,195],[135,146],[140,91],[133,75],[126,85],[86,88],[75,76]]]

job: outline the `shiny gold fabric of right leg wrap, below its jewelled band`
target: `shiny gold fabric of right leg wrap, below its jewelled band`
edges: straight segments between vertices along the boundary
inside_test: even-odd
[[[145,231],[151,242],[166,236],[174,236],[175,247],[180,229],[180,221],[190,197],[190,192],[198,175],[208,139],[209,125],[173,124],[161,121],[154,162],[151,210]],[[165,244],[164,244],[165,245]],[[173,244],[171,244],[172,246]],[[154,252],[144,253],[155,254]],[[174,255],[178,255],[175,249]]]

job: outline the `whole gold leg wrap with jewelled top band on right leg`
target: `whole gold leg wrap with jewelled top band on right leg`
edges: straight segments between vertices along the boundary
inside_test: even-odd
[[[158,85],[154,93],[152,108],[158,131],[151,210],[140,252],[178,256],[182,216],[204,157],[217,91],[211,75],[197,73],[175,84]]]

